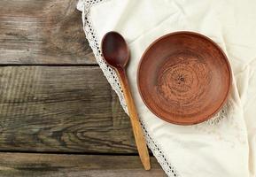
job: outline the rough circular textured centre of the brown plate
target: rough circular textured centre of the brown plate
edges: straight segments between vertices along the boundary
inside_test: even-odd
[[[195,110],[190,108],[203,106],[200,103],[206,88],[202,86],[210,86],[211,71],[204,58],[191,51],[179,51],[160,67],[157,82],[160,103],[171,105],[178,113],[183,109],[193,113]]]

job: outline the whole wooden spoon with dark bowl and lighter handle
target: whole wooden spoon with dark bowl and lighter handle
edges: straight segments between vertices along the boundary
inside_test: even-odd
[[[109,32],[103,37],[101,47],[105,62],[110,65],[119,75],[121,89],[123,90],[125,96],[128,106],[128,114],[135,135],[137,150],[144,165],[144,169],[150,170],[151,164],[149,152],[144,140],[143,130],[140,126],[136,106],[131,96],[128,78],[125,71],[129,59],[128,45],[119,33]]]

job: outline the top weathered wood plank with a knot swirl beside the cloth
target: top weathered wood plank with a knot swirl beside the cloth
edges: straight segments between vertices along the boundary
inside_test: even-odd
[[[0,65],[96,64],[74,0],[1,0]]]

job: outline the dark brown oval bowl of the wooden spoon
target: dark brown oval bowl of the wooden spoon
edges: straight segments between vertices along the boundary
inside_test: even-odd
[[[129,52],[125,39],[117,32],[105,34],[102,40],[102,50],[105,62],[114,67],[125,67],[128,63]]]

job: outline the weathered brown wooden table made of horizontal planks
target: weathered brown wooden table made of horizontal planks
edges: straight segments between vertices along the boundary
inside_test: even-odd
[[[145,172],[74,0],[0,1],[0,176]]]

